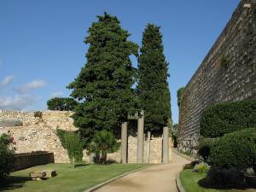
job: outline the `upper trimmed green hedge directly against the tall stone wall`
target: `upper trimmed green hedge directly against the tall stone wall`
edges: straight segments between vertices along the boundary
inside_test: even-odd
[[[202,113],[200,126],[203,137],[222,137],[226,133],[256,127],[256,100],[209,107]]]

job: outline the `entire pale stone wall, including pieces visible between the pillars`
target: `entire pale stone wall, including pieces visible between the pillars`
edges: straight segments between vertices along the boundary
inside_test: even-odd
[[[11,131],[15,137],[16,153],[32,151],[49,151],[54,153],[55,163],[67,163],[67,150],[61,146],[56,129],[75,131],[70,112],[17,112],[0,110],[0,121],[19,120],[22,125],[14,127],[0,127],[0,134]],[[144,148],[146,148],[146,141]],[[150,148],[150,163],[160,163],[162,156],[162,137],[152,137]],[[145,154],[145,153],[144,153]],[[144,158],[145,159],[145,158]],[[90,158],[84,150],[83,160],[89,162]],[[108,160],[120,162],[120,150],[108,154]],[[128,163],[137,162],[137,137],[132,134],[128,137]]]

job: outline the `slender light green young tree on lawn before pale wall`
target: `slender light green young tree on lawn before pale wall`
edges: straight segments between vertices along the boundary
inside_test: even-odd
[[[65,147],[67,148],[68,159],[72,168],[75,168],[75,164],[82,160],[83,157],[83,143],[80,140],[80,136],[76,132],[66,132],[64,135]],[[63,144],[62,144],[63,145]]]

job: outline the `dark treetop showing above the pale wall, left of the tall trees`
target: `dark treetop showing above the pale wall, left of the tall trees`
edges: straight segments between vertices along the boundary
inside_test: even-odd
[[[49,110],[73,111],[78,102],[73,98],[55,97],[49,99],[47,106]]]

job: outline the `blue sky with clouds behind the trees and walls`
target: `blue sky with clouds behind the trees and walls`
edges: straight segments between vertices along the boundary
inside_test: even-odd
[[[185,86],[230,20],[239,0],[0,0],[0,109],[46,110],[86,63],[96,15],[116,15],[141,45],[148,23],[161,26],[169,63],[172,119]],[[137,67],[137,61],[134,66]]]

